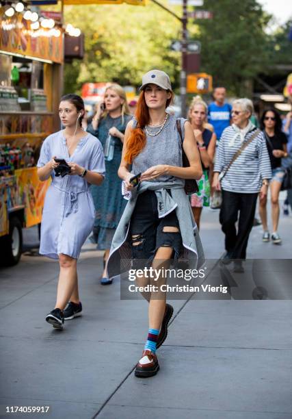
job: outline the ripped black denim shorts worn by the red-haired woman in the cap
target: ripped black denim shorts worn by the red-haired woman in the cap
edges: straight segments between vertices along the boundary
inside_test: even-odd
[[[164,227],[176,227],[178,232],[163,231]],[[181,251],[183,242],[176,212],[174,210],[158,218],[157,196],[153,190],[146,190],[137,197],[131,216],[130,241],[135,268],[145,266],[142,261],[147,261],[146,265],[150,266],[159,247],[172,247],[174,259],[177,259]]]

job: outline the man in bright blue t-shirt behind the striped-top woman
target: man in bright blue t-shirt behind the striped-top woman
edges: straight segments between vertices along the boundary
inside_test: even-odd
[[[230,125],[231,105],[225,103],[226,88],[217,87],[213,92],[214,102],[208,107],[208,119],[215,129],[217,139],[220,140],[222,132]]]

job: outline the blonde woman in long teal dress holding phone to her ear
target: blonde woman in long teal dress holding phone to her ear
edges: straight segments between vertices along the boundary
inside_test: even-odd
[[[127,98],[118,84],[111,84],[105,90],[104,101],[98,103],[96,114],[87,130],[101,141],[105,151],[106,177],[102,186],[92,186],[96,209],[93,240],[98,250],[104,250],[102,285],[111,284],[107,278],[106,263],[111,240],[124,211],[125,201],[121,194],[121,180],[118,168],[122,157],[122,144],[127,123],[131,120]]]

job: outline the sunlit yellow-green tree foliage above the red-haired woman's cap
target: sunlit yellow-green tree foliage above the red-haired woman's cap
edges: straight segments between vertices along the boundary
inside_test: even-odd
[[[85,82],[117,81],[139,86],[151,68],[166,71],[179,85],[180,53],[170,50],[181,25],[153,3],[66,8],[66,22],[85,34],[85,57],[65,66],[65,89],[79,91]]]

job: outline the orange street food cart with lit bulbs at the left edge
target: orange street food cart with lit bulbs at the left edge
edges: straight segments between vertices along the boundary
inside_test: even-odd
[[[44,138],[59,129],[64,34],[31,29],[22,13],[0,8],[0,257],[16,264],[22,228],[38,225],[49,181],[38,181]]]

